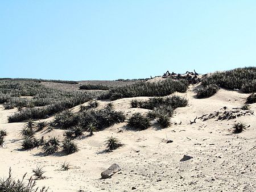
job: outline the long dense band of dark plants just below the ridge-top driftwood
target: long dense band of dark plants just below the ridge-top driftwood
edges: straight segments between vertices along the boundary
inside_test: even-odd
[[[184,93],[187,91],[188,84],[186,81],[172,80],[166,78],[159,82],[136,82],[132,85],[126,85],[110,89],[98,97],[98,99],[121,99],[129,97],[162,97],[174,93],[175,91]]]

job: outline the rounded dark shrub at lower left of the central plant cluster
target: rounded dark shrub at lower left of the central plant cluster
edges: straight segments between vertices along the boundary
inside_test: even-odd
[[[139,112],[136,112],[128,119],[127,126],[138,130],[146,130],[150,127],[150,120]]]

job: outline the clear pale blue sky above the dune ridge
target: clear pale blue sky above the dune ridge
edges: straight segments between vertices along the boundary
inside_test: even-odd
[[[256,66],[256,1],[0,1],[0,77],[115,80]]]

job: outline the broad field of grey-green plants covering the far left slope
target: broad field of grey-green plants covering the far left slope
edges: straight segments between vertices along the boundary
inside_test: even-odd
[[[0,103],[6,109],[18,107],[18,112],[9,116],[9,122],[48,118],[93,97],[93,93],[60,91],[35,81],[0,80]]]

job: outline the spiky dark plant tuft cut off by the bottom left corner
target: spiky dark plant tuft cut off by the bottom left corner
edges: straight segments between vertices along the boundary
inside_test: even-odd
[[[26,174],[22,177],[21,180],[15,180],[11,174],[11,168],[9,171],[9,176],[6,178],[0,178],[0,191],[3,192],[47,192],[47,187],[42,187],[39,189],[36,187],[36,182],[32,180],[32,177],[25,182]]]

